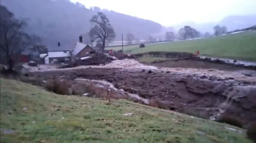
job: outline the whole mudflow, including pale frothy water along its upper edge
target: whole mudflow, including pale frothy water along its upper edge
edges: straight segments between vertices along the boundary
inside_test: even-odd
[[[256,79],[245,71],[219,71],[147,66],[134,60],[116,60],[102,66],[33,71],[44,79],[93,80],[113,91],[139,96],[145,103],[161,100],[171,110],[195,112],[215,120],[225,113],[247,124],[256,121]],[[246,71],[249,72],[249,71]],[[253,71],[250,71],[253,72]],[[199,115],[201,116],[201,115]]]

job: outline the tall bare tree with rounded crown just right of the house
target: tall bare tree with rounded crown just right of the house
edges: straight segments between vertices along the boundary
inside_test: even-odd
[[[90,22],[93,24],[89,32],[91,40],[101,44],[100,51],[103,53],[105,51],[106,41],[110,42],[115,39],[115,31],[107,16],[102,12],[93,15]]]

